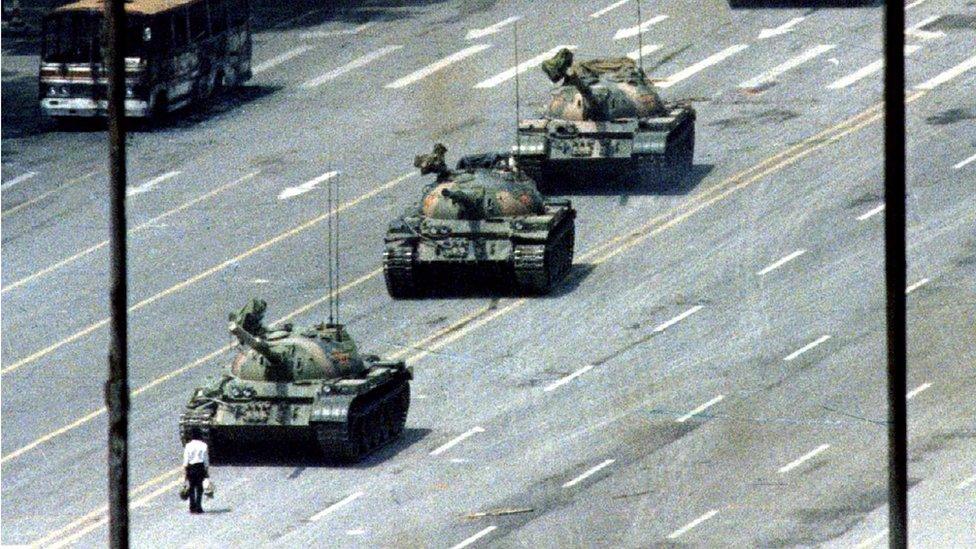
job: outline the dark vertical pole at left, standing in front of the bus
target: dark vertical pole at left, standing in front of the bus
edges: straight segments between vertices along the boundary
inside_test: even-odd
[[[129,383],[125,223],[125,4],[105,0],[104,57],[108,67],[109,232],[112,250],[108,409],[109,547],[129,547]]]

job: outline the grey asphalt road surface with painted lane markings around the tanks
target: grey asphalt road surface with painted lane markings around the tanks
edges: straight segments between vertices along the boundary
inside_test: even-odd
[[[614,36],[636,25],[635,4],[255,3],[255,78],[130,137],[135,546],[884,544],[880,73],[831,87],[880,58],[880,8],[644,2],[645,20],[668,15],[643,34],[645,68],[671,78],[665,98],[698,110],[694,172],[574,194],[576,265],[551,296],[394,302],[382,235],[418,198],[413,155],[434,141],[456,159],[512,140],[514,80],[475,87],[514,65],[503,23],[520,17],[523,61],[559,45],[624,55],[636,37]],[[908,35],[919,48],[906,96],[911,541],[966,547],[976,5],[909,6],[909,26],[922,24]],[[40,118],[36,44],[8,34],[2,542],[97,547],[105,135]],[[478,44],[490,47],[409,76]],[[523,73],[527,114],[546,84],[535,67]],[[260,296],[272,319],[325,314],[325,193],[278,196],[330,171],[343,201],[342,319],[361,348],[413,365],[407,432],[352,467],[300,453],[214,467],[217,497],[190,517],[176,498],[177,416],[231,356],[228,311]]]

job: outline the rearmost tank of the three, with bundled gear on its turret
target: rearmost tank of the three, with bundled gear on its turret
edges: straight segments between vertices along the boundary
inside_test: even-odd
[[[543,117],[519,122],[513,152],[540,184],[648,174],[682,177],[695,150],[695,110],[665,103],[627,57],[574,62],[560,50],[542,64],[556,83]]]

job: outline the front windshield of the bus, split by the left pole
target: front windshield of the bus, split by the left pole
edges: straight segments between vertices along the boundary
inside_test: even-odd
[[[126,57],[142,57],[148,36],[141,17],[128,17]],[[97,12],[56,13],[44,19],[41,57],[48,63],[100,63],[102,14]]]

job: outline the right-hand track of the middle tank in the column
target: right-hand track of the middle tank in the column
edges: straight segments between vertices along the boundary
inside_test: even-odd
[[[567,220],[546,244],[516,245],[513,255],[515,282],[519,288],[533,295],[549,293],[573,267],[575,240],[576,228]]]

